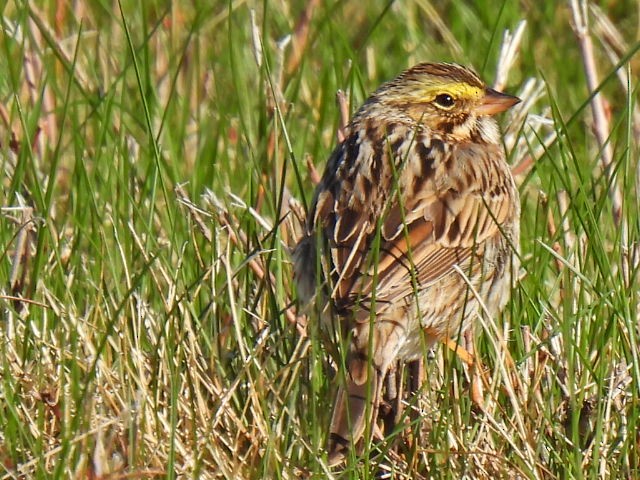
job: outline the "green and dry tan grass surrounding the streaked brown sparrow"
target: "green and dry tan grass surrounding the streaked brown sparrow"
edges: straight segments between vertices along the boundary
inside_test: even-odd
[[[529,162],[521,281],[476,328],[484,411],[439,348],[416,442],[385,465],[640,476],[637,4],[600,2],[620,44],[591,17],[612,185],[564,3],[58,3],[2,7],[0,478],[339,477],[323,451],[329,355],[313,319],[306,336],[291,322],[279,212],[310,201],[305,162],[322,171],[335,144],[338,89],[353,112],[425,60],[491,83],[523,19],[506,90],[533,78],[540,96],[501,118],[512,162]],[[307,4],[297,62],[302,37],[280,45]],[[341,478],[379,468],[351,459]]]

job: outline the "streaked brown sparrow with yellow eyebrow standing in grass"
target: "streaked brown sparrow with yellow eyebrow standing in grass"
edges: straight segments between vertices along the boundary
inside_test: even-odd
[[[329,158],[293,258],[300,299],[349,339],[330,464],[373,431],[394,362],[464,331],[480,305],[504,307],[520,205],[492,115],[518,102],[422,63],[369,97]]]

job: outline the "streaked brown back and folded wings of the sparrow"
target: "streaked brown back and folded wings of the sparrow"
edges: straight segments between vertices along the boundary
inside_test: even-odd
[[[331,252],[338,308],[374,295],[384,308],[480,257],[517,208],[502,158],[497,145],[446,148],[426,136],[340,145],[312,212]]]

